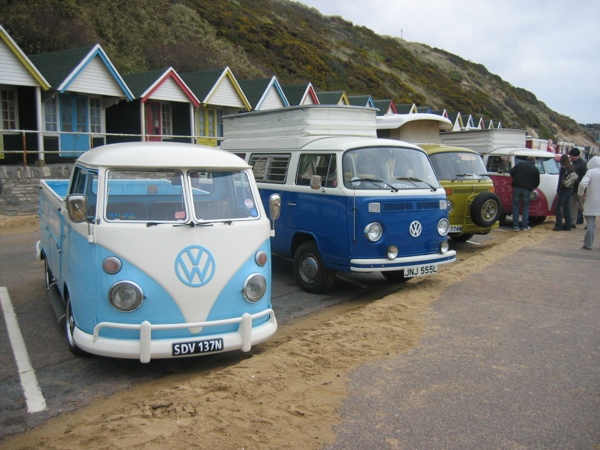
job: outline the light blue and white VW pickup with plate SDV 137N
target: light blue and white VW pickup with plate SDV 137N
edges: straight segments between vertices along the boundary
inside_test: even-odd
[[[273,198],[271,217],[277,217]],[[275,333],[271,225],[250,167],[192,144],[98,147],[42,180],[38,257],[75,354],[248,351]]]

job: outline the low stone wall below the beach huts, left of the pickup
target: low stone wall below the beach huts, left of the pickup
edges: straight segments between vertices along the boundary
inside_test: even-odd
[[[0,215],[37,214],[40,179],[69,178],[72,169],[73,164],[51,164],[43,167],[0,165],[0,178],[4,187],[0,194]]]

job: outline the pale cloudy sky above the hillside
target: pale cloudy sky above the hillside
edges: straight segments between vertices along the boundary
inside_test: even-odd
[[[484,65],[553,111],[600,123],[598,0],[295,0]]]

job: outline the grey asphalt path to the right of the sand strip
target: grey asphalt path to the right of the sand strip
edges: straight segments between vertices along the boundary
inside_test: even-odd
[[[583,233],[451,286],[418,348],[352,374],[327,448],[599,448],[600,247]]]

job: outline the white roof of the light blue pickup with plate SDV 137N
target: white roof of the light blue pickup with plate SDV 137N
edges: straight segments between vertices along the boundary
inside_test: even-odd
[[[87,167],[120,168],[203,168],[247,169],[238,156],[195,144],[169,142],[128,142],[96,147],[81,155],[77,162]]]

